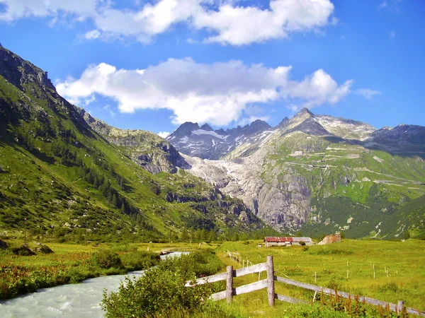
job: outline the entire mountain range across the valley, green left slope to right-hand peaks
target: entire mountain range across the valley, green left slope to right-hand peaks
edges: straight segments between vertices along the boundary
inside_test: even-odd
[[[274,230],[425,237],[425,127],[303,109],[166,140],[91,117],[0,47],[0,229],[92,237]]]

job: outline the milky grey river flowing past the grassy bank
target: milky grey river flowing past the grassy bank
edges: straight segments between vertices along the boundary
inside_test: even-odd
[[[162,256],[173,257],[180,252]],[[41,288],[37,293],[19,296],[0,302],[0,317],[103,317],[101,302],[103,289],[117,291],[120,281],[126,276],[140,276],[143,271],[134,271],[128,275],[102,276],[86,279],[79,284]]]

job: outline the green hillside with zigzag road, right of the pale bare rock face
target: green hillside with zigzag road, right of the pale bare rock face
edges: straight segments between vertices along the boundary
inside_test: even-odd
[[[347,237],[385,239],[425,235],[423,158],[300,131],[276,139],[271,147],[263,180],[271,183],[292,175],[310,189],[303,234],[344,231]],[[303,154],[293,155],[295,151]]]

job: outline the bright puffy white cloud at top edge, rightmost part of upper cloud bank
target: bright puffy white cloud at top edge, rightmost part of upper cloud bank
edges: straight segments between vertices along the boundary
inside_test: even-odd
[[[199,11],[193,24],[217,33],[208,37],[207,42],[247,45],[327,25],[333,11],[334,5],[328,0],[272,0],[270,10],[225,4],[217,11]]]

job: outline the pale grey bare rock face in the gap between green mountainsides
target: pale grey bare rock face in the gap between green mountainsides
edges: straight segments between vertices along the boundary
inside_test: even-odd
[[[269,138],[277,137],[274,131]],[[234,160],[203,160],[184,156],[188,170],[215,184],[222,192],[242,199],[254,214],[276,230],[297,230],[310,212],[307,180],[290,167],[265,172],[271,146],[256,147],[251,155]],[[243,153],[243,152],[242,152]]]

